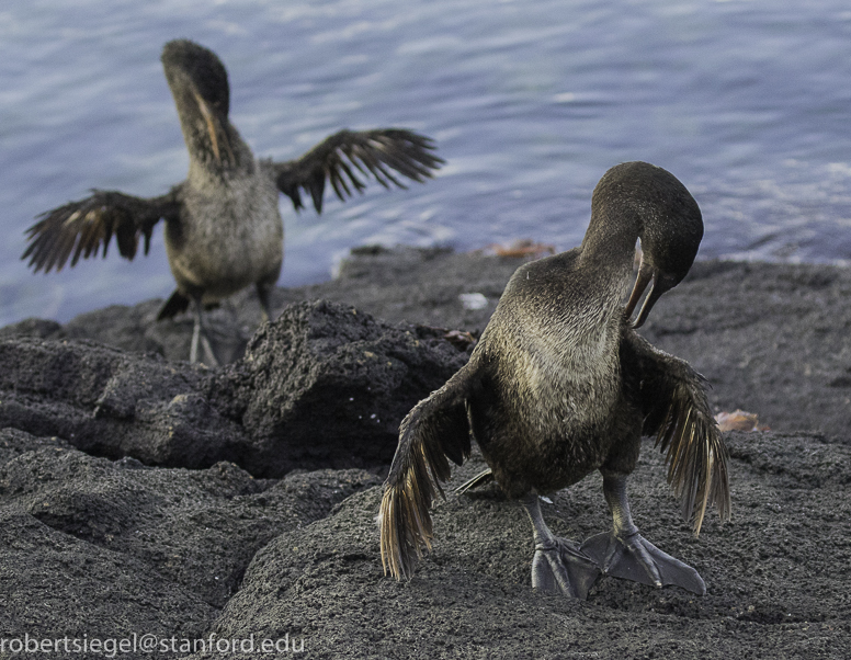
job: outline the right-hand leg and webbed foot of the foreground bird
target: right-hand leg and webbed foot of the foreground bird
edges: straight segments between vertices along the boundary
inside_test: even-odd
[[[592,536],[580,548],[603,574],[657,588],[674,584],[697,595],[706,593],[696,570],[662,553],[638,533],[629,513],[625,475],[603,474],[603,494],[612,512],[613,530]]]

